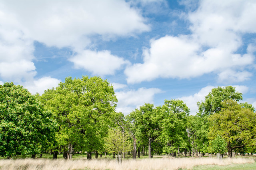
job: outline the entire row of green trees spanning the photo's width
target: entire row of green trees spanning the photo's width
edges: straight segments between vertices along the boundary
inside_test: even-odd
[[[238,103],[242,93],[218,87],[199,101],[198,113],[178,99],[162,106],[145,103],[129,115],[116,112],[112,85],[100,77],[67,77],[42,95],[31,95],[13,83],[0,85],[0,154],[10,158],[51,151],[71,159],[75,152],[184,156],[232,152],[253,153],[256,113]]]

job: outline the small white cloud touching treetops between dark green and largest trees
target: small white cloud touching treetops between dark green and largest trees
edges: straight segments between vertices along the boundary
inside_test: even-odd
[[[36,94],[38,92],[40,95],[44,93],[45,90],[51,89],[52,87],[57,87],[60,83],[59,79],[52,77],[42,77],[38,80],[32,82],[26,82],[24,88],[28,89],[31,94]]]

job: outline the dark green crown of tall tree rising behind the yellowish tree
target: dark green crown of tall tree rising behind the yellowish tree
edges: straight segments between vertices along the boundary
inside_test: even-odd
[[[205,97],[204,101],[198,102],[198,114],[200,116],[218,113],[221,108],[221,102],[232,99],[234,101],[242,100],[242,93],[236,92],[236,88],[232,86],[217,87]]]

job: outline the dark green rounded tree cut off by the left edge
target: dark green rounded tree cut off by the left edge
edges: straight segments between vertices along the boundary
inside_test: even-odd
[[[0,153],[7,158],[14,154],[35,158],[54,139],[52,113],[20,85],[0,85],[0,118]]]

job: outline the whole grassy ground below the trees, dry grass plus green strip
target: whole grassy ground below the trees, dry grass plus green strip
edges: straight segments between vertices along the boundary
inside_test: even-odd
[[[156,158],[143,158],[132,160],[132,158],[122,160],[122,164],[117,164],[113,156],[103,156],[102,158],[86,160],[85,154],[76,154],[72,160],[64,160],[59,156],[57,160],[52,160],[52,156],[43,155],[37,159],[12,159],[0,160],[0,170],[177,170],[177,169],[256,169],[253,158],[224,158],[218,160],[212,158],[168,158],[167,156],[156,156]],[[20,157],[19,157],[20,158]]]

